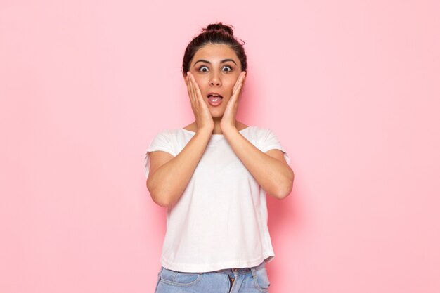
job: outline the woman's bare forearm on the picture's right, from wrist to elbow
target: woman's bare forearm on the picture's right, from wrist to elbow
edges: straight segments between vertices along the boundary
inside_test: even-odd
[[[250,174],[269,195],[282,199],[292,191],[293,171],[284,162],[261,152],[237,129],[224,131],[229,145]]]

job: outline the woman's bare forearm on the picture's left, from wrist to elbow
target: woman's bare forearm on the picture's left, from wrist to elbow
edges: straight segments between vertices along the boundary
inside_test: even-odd
[[[176,157],[148,176],[147,188],[153,200],[169,207],[179,200],[205,152],[210,131],[198,131]]]

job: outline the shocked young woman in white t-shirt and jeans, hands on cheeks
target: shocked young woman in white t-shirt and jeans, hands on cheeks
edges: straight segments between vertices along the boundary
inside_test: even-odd
[[[167,207],[156,292],[268,292],[266,193],[289,195],[290,159],[271,130],[235,119],[247,61],[230,26],[203,29],[182,70],[195,121],[145,154],[147,188]]]

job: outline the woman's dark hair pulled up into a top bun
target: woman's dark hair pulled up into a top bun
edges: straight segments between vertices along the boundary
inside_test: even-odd
[[[246,53],[243,45],[245,44],[242,41],[240,44],[237,41],[237,38],[234,37],[234,32],[231,28],[231,25],[223,25],[221,22],[212,23],[208,25],[206,28],[202,29],[202,32],[194,37],[190,44],[186,46],[185,55],[183,56],[182,63],[182,71],[183,74],[186,74],[190,68],[190,62],[193,60],[195,52],[197,52],[202,46],[207,44],[224,44],[228,45],[235,54],[237,54],[238,59],[241,63],[241,70],[246,71],[247,69],[247,61],[246,61]]]

